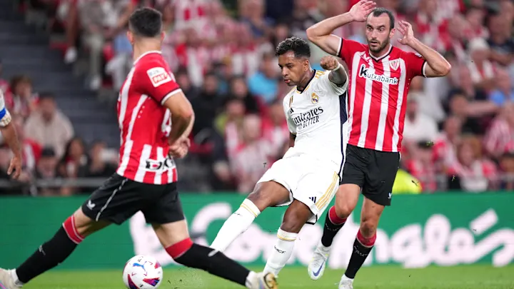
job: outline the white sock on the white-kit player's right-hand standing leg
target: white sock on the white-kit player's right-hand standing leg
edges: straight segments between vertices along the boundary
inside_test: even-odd
[[[271,253],[268,262],[266,262],[264,273],[271,272],[278,275],[278,272],[282,270],[289,258],[291,258],[291,254],[293,254],[294,243],[297,236],[298,233],[288,233],[285,230],[278,229],[277,242],[275,243],[275,247],[273,247],[273,253]]]

